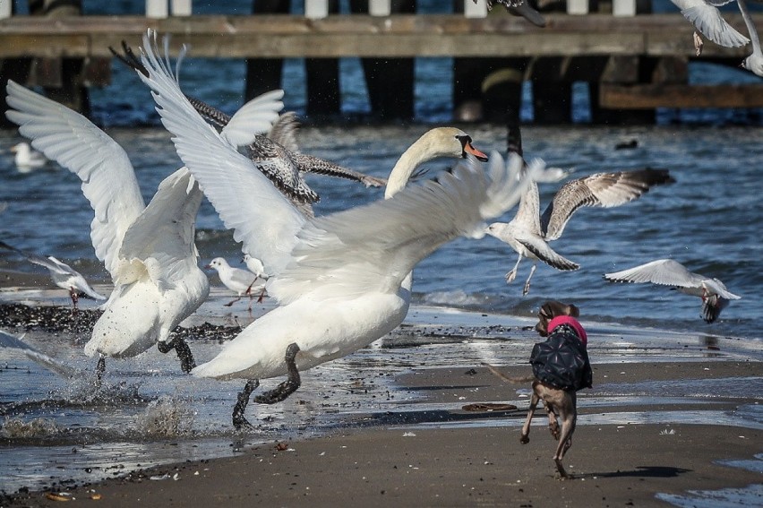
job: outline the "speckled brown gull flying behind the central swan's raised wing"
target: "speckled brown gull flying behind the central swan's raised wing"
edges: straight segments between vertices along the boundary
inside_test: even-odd
[[[120,55],[112,47],[109,47],[112,54],[121,60],[125,65],[133,68],[139,76],[148,77],[148,71],[141,63],[141,60],[135,56],[132,48],[122,41],[124,56]],[[178,58],[178,64],[182,60]],[[283,97],[283,90],[273,90],[269,92],[279,94],[279,99]],[[270,128],[268,135],[252,135],[251,128],[244,125],[244,129],[239,129],[235,125],[230,125],[234,120],[226,113],[209,104],[191,97],[185,96],[192,104],[193,108],[199,112],[211,125],[215,125],[225,133],[224,137],[228,142],[244,151],[244,153],[255,162],[255,167],[276,185],[281,192],[286,194],[297,208],[308,216],[313,215],[313,203],[319,201],[318,194],[310,188],[304,181],[303,173],[316,173],[330,177],[347,178],[364,184],[365,186],[380,187],[386,184],[383,178],[364,175],[352,169],[343,168],[328,160],[313,157],[300,153],[296,143],[296,130],[298,122],[293,112],[287,112],[279,116],[278,120]]]

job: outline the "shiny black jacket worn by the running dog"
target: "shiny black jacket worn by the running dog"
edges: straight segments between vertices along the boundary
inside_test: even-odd
[[[591,388],[594,373],[588,353],[578,333],[562,324],[548,334],[545,342],[538,342],[530,354],[533,374],[539,381],[560,390]]]

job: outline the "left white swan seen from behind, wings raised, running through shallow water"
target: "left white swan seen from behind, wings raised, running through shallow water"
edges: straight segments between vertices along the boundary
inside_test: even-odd
[[[209,295],[209,280],[198,266],[194,244],[202,197],[198,183],[180,168],[159,184],[145,206],[130,159],[106,133],[84,116],[13,81],[7,92],[7,104],[13,108],[6,112],[8,119],[48,158],[80,177],[82,192],[95,211],[90,237],[115,286],[85,345],[86,355],[99,355],[99,379],[105,357],[137,356],[154,344],[165,353],[176,349],[181,368],[190,371],[195,366],[191,350],[182,339],[169,340],[169,334]],[[268,129],[267,119],[274,112],[278,116],[282,107],[272,96],[260,97],[236,115],[264,110]]]

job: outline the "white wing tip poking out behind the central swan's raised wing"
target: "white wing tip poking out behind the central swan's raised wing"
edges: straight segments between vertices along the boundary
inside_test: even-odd
[[[255,97],[231,116],[220,134],[234,146],[250,144],[254,134],[269,132],[279,120],[279,112],[284,108],[283,97],[284,90],[272,90]]]

